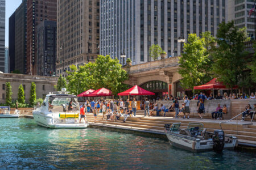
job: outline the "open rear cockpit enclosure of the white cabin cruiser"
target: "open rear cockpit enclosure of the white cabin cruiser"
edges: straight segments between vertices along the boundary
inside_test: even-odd
[[[75,97],[58,96],[48,98],[50,112],[72,112],[79,111],[79,103]]]

